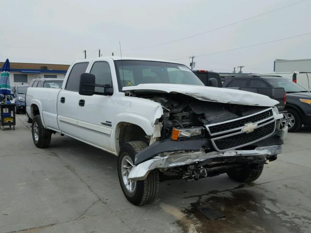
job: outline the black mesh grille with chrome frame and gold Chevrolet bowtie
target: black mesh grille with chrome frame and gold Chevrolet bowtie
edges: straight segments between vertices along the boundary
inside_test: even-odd
[[[236,149],[262,140],[275,132],[272,108],[225,122],[206,125],[218,151]]]

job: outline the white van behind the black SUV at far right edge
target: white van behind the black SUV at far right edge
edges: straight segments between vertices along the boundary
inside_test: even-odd
[[[264,74],[257,74],[257,75],[272,75],[272,76],[281,76],[284,78],[288,78],[292,80],[294,83],[297,83],[298,85],[305,88],[307,91],[311,91],[311,72],[299,72],[299,71],[293,71],[293,72],[273,72],[273,73],[264,73]]]

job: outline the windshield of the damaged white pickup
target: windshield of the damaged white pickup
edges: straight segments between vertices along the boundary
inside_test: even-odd
[[[204,84],[192,71],[180,64],[123,60],[116,61],[121,88],[141,83]]]

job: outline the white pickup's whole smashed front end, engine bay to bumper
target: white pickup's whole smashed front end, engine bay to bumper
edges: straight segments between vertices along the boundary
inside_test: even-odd
[[[129,94],[129,93],[127,93]],[[198,100],[183,94],[132,91],[161,104],[161,135],[135,157],[131,180],[153,169],[163,179],[197,180],[230,169],[264,164],[281,153],[287,128],[276,107]]]

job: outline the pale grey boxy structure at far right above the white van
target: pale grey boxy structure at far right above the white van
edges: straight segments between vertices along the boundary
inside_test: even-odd
[[[301,60],[282,60],[276,59],[274,61],[275,72],[311,72],[311,59]]]

